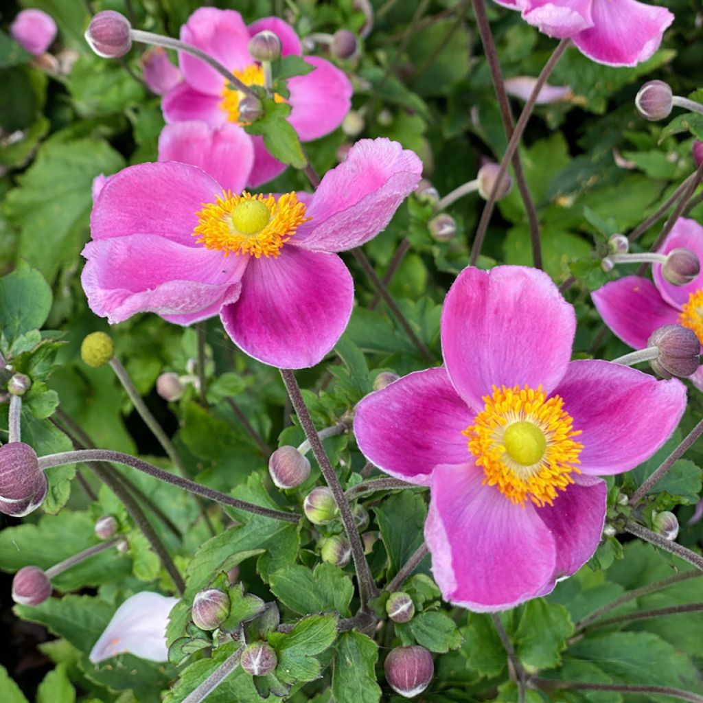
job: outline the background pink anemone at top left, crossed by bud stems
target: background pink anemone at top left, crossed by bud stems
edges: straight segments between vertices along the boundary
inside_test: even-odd
[[[245,25],[240,13],[202,7],[181,27],[181,39],[198,46],[247,85],[263,85],[262,67],[250,56],[247,45],[257,32],[269,30],[278,35],[283,56],[302,55],[295,30],[283,20],[267,17]],[[302,141],[317,139],[337,129],[349,112],[352,84],[329,61],[307,56],[314,70],[288,80],[292,108],[288,120]],[[162,109],[166,122],[202,120],[212,127],[225,122],[240,124],[239,103],[243,93],[232,90],[217,71],[193,56],[179,54],[183,82],[164,96]],[[283,98],[280,98],[281,100]],[[285,165],[274,159],[260,136],[246,135],[252,141],[256,159],[247,183],[255,188],[283,172]]]

